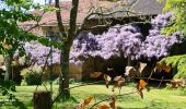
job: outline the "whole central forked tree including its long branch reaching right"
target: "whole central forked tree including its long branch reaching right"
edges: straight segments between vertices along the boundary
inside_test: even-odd
[[[119,0],[111,0],[111,1],[119,1]],[[138,1],[138,0],[135,0]],[[120,2],[123,3],[123,2]],[[135,2],[132,2],[135,3]],[[131,7],[131,3],[129,4]],[[70,55],[70,49],[72,46],[73,40],[75,37],[79,35],[79,33],[82,29],[88,29],[85,27],[86,21],[92,17],[97,15],[98,17],[102,17],[102,23],[97,24],[97,26],[108,26],[111,23],[105,21],[105,16],[109,16],[112,14],[118,13],[118,12],[126,12],[130,13],[130,10],[111,10],[106,13],[103,12],[105,8],[100,7],[100,8],[90,8],[90,13],[88,16],[83,20],[83,23],[80,28],[77,28],[77,15],[78,15],[78,8],[79,8],[79,0],[71,0],[71,10],[70,10],[70,19],[69,19],[69,29],[66,32],[62,19],[61,19],[61,9],[59,7],[59,0],[55,0],[55,8],[58,10],[56,11],[56,16],[57,16],[57,22],[58,22],[58,27],[61,34],[61,43],[63,44],[61,48],[61,58],[60,58],[60,66],[61,66],[61,74],[59,76],[59,94],[62,94],[62,97],[68,99],[70,97],[70,90],[69,88],[69,55]],[[95,9],[94,11],[92,11]],[[90,29],[90,28],[89,28]]]

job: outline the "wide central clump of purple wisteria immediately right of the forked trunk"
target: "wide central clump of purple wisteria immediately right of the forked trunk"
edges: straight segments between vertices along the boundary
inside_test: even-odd
[[[89,33],[84,39],[75,39],[72,46],[70,59],[77,60],[80,57],[101,57],[108,60],[113,57],[137,59],[142,44],[142,35],[138,27],[131,25],[116,25],[108,28],[102,35]]]

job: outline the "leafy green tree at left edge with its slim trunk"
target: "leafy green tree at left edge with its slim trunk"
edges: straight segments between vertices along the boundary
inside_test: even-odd
[[[31,9],[42,8],[34,4],[32,0],[1,0],[0,4],[0,53],[5,56],[7,72],[4,80],[8,81],[12,73],[12,57],[15,50],[23,51],[23,41],[37,39],[36,36],[28,34],[19,27],[19,22],[30,20],[37,21],[38,16],[28,14]]]

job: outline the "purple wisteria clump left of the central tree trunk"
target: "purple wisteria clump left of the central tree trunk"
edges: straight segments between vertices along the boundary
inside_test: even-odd
[[[31,65],[44,66],[46,61],[48,65],[60,63],[60,50],[57,48],[51,49],[50,47],[46,47],[38,41],[31,41],[31,43],[25,43],[24,49],[25,49],[26,57],[30,58],[28,63],[31,63]],[[53,55],[53,63],[51,63],[51,55]],[[18,53],[14,55],[14,58],[16,57]]]

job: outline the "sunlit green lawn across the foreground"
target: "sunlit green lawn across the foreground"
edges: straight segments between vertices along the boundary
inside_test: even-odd
[[[74,86],[74,85],[70,85]],[[12,104],[5,104],[0,106],[0,109],[33,109],[32,96],[36,86],[16,86],[16,97],[20,104],[13,106]],[[49,89],[49,86],[47,87]],[[74,107],[83,101],[88,96],[95,96],[96,101],[107,98],[108,96],[115,94],[117,95],[118,89],[115,93],[107,89],[105,85],[88,85],[71,89],[71,98],[68,101],[57,101],[54,104],[54,109],[74,109]],[[57,95],[58,86],[54,85],[54,97]],[[121,94],[127,94],[132,92],[133,87],[125,86],[121,89]],[[45,90],[44,86],[39,86],[38,90]],[[90,106],[94,104],[95,100],[91,101]],[[108,105],[108,101],[102,102]],[[158,89],[153,88],[150,92],[144,90],[144,98],[141,99],[138,94],[124,95],[117,98],[116,101],[117,109],[128,109],[128,108],[141,108],[141,109],[185,109],[186,107],[186,90],[181,89]]]

